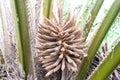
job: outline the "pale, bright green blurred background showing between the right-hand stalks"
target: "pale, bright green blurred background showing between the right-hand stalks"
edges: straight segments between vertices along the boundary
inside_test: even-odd
[[[66,16],[66,14],[70,11],[70,8],[73,7],[73,5],[71,5],[72,1],[76,1],[76,0],[64,0],[64,17]],[[82,1],[82,0],[80,0]],[[91,5],[94,4],[96,0],[90,0],[88,5],[87,5],[87,8],[85,10],[85,14],[83,15],[83,19],[85,19],[87,17],[87,15],[89,14],[89,10],[91,8]],[[98,16],[93,24],[93,27],[91,28],[91,31],[90,31],[90,34],[89,34],[89,37],[91,35],[94,34],[94,29],[97,28],[97,26],[99,24],[101,24],[104,16],[107,14],[108,10],[110,9],[110,6],[112,4],[114,0],[105,0],[99,13],[98,13]],[[110,3],[108,3],[110,2]],[[82,2],[81,2],[82,3]],[[78,11],[82,4],[81,3],[76,3],[74,4],[74,12]],[[82,25],[83,23],[81,22],[80,26]],[[109,29],[106,37],[104,38],[101,46],[107,42],[108,44],[108,49],[112,49],[112,47],[114,46],[113,43],[116,41],[116,40],[119,40],[120,39],[120,13],[119,15],[117,16],[116,20],[114,21],[114,24],[112,24],[111,28]],[[101,50],[101,46],[99,48],[99,50]]]

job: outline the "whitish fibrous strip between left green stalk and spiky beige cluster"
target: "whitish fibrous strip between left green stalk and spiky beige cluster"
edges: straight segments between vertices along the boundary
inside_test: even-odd
[[[33,55],[33,62],[34,62],[34,78],[38,77],[41,78],[42,74],[40,74],[40,67],[37,63],[37,60],[35,58],[37,50],[35,49],[35,46],[37,45],[36,40],[36,34],[38,30],[39,22],[42,20],[42,4],[43,0],[27,0],[26,1],[26,11],[27,11],[27,17],[28,17],[28,23],[29,23],[29,35],[30,35],[30,47],[31,47],[31,53]],[[42,72],[42,71],[41,71]],[[31,78],[31,75],[28,75],[28,78]],[[41,76],[41,77],[40,77]],[[32,76],[33,77],[33,76]],[[39,79],[38,79],[39,80]]]

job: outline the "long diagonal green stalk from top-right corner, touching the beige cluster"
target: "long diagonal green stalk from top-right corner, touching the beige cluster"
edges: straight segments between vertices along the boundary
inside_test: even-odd
[[[119,9],[120,9],[120,1],[115,0],[114,3],[112,4],[108,14],[106,15],[105,19],[103,20],[96,36],[94,37],[92,44],[90,45],[90,48],[88,50],[89,56],[86,57],[84,59],[84,61],[82,62],[80,71],[78,73],[77,80],[83,80],[85,78],[88,68],[90,67],[90,64],[92,62],[92,59],[94,58],[95,53],[97,52],[97,50],[100,46],[100,43],[104,39],[111,24],[113,23],[117,14],[119,13]]]

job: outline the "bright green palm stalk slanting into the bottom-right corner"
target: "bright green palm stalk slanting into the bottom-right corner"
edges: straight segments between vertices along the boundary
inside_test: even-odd
[[[90,76],[89,80],[105,80],[120,64],[120,42],[107,58],[101,63],[96,71]],[[109,65],[108,65],[109,64]]]

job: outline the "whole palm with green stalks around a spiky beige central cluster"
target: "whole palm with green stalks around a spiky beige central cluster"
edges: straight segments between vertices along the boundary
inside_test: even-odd
[[[120,74],[119,67],[116,68],[120,61],[119,40],[114,43],[113,52],[109,52],[106,45],[103,47],[104,54],[107,52],[105,57],[98,51],[119,14],[120,0],[114,0],[94,38],[89,39],[91,44],[86,45],[103,1],[95,1],[86,23],[88,16],[82,17],[86,15],[89,0],[85,0],[77,16],[68,13],[66,20],[62,18],[63,0],[0,0],[1,51],[8,72],[7,77],[3,77],[6,80],[104,80],[114,69]]]

